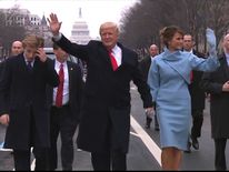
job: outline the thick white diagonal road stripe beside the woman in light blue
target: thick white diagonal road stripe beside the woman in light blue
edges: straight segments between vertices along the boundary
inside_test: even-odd
[[[153,142],[153,140],[148,135],[148,133],[141,128],[141,125],[136,121],[136,119],[131,115],[131,127],[138,134],[138,136],[142,140],[147,149],[150,153],[155,156],[157,162],[161,165],[161,150],[160,148]]]

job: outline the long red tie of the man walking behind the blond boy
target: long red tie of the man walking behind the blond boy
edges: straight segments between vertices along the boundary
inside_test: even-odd
[[[60,83],[59,83],[59,85],[58,85],[57,97],[56,97],[56,105],[57,105],[57,107],[61,107],[61,105],[62,105],[63,80],[64,80],[63,64],[60,64],[59,80],[60,80]]]

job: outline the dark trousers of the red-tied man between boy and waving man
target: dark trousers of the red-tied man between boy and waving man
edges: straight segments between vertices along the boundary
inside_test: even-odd
[[[73,135],[77,129],[78,121],[71,115],[69,105],[63,108],[51,109],[51,149],[50,149],[50,168],[57,169],[58,150],[57,141],[60,134],[61,139],[61,163],[62,170],[72,170],[73,163]]]

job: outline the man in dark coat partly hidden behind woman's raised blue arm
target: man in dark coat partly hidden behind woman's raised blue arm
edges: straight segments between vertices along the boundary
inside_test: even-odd
[[[183,36],[183,51],[196,54],[198,58],[205,59],[205,54],[196,51],[193,49],[195,41],[191,34]],[[189,92],[191,95],[191,115],[192,115],[192,127],[190,139],[188,140],[188,151],[191,152],[190,146],[199,150],[199,141],[198,138],[201,136],[201,128],[203,122],[203,110],[206,103],[206,92],[200,88],[199,83],[202,79],[202,71],[193,70],[191,71],[191,82],[189,84]]]

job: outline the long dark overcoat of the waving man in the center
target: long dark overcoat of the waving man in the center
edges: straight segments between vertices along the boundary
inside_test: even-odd
[[[137,53],[118,43],[122,50],[122,62],[117,71],[112,71],[108,50],[102,42],[90,41],[87,45],[79,45],[62,37],[57,43],[84,60],[88,67],[78,146],[89,152],[102,152],[111,145],[127,152],[131,80],[138,87],[143,107],[152,107],[149,88],[138,68]]]

